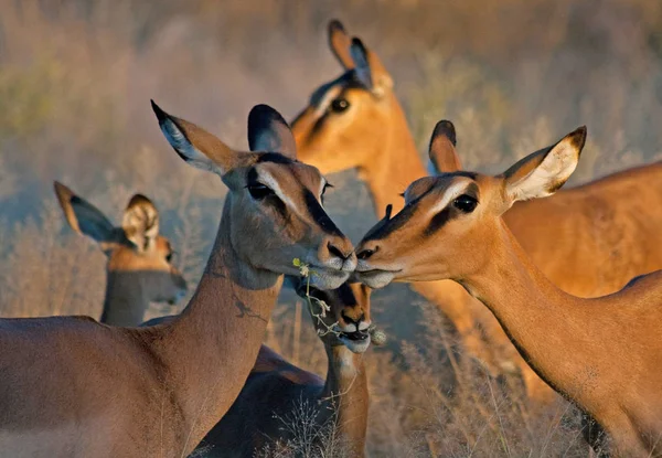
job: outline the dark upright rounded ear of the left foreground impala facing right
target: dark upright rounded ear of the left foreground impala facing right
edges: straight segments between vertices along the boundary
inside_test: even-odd
[[[297,143],[287,121],[268,105],[256,105],[248,115],[250,151],[280,152],[297,159]]]

